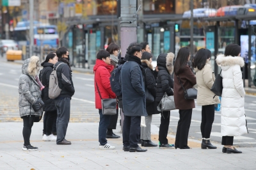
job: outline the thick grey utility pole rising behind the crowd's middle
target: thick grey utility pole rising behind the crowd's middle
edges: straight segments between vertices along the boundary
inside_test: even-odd
[[[120,35],[122,58],[132,42],[137,42],[137,0],[121,1]],[[140,8],[138,8],[140,9]]]

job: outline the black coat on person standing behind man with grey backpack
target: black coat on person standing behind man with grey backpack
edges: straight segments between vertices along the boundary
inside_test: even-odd
[[[42,66],[44,66],[44,68],[40,71],[39,79],[45,86],[45,88],[42,89],[42,100],[44,102],[43,108],[46,112],[56,111],[57,108],[55,106],[54,99],[49,98],[49,81],[54,65],[52,63],[43,63]]]

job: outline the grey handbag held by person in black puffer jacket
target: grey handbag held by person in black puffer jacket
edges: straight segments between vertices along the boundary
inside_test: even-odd
[[[174,97],[173,96],[169,96],[164,93],[163,98],[161,99],[160,103],[157,105],[157,111],[172,111],[175,110],[175,103],[174,103]]]

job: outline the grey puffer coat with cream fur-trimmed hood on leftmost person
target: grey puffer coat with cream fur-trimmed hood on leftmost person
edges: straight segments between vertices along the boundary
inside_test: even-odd
[[[42,116],[43,108],[35,112],[32,105],[41,98],[40,86],[35,81],[39,71],[39,58],[32,56],[22,65],[19,77],[19,112],[20,118],[28,115]]]

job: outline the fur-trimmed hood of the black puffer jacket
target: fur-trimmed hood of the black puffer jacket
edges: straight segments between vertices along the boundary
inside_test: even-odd
[[[174,54],[169,52],[167,54],[159,54],[157,58],[157,66],[166,68],[170,74],[173,72],[173,58]],[[161,68],[159,68],[161,69]]]

